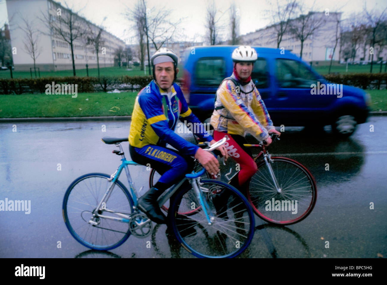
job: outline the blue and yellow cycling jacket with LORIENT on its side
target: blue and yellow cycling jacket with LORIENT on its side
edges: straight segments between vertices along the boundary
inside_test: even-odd
[[[154,80],[139,92],[132,113],[129,143],[139,148],[149,144],[164,147],[169,143],[182,153],[194,156],[199,147],[177,135],[175,128],[180,117],[188,123],[202,123],[188,107],[183,92],[176,83],[169,95],[171,98]],[[200,133],[195,134],[207,142],[213,140],[203,127],[200,128]]]

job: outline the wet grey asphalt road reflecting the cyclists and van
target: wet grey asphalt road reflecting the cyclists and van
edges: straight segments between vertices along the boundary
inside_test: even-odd
[[[110,252],[95,252],[79,244],[63,222],[68,185],[82,174],[115,171],[120,160],[111,151],[116,148],[101,137],[127,136],[129,121],[17,123],[16,132],[12,125],[0,123],[0,200],[31,200],[31,213],[0,211],[0,257],[193,257],[168,239],[165,225],[153,224],[152,235],[144,239],[130,237]],[[256,217],[252,244],[242,256],[386,257],[386,129],[387,117],[370,117],[347,140],[338,140],[327,127],[321,132],[286,128],[270,152],[310,170],[317,203],[295,225],[271,226]],[[192,140],[192,135],[185,137]],[[128,144],[123,146],[129,159]],[[230,164],[231,159],[227,169]],[[144,166],[130,171],[137,189],[147,189],[149,171]],[[121,175],[128,187],[125,180]]]

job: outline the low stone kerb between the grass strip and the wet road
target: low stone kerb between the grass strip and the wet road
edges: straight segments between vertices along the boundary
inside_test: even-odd
[[[387,116],[387,111],[370,112],[370,116]],[[132,116],[0,118],[0,123],[16,123],[16,122],[75,122],[75,121],[130,121],[131,119],[132,119]]]

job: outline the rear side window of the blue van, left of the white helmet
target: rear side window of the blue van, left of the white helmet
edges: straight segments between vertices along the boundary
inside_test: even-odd
[[[226,62],[223,58],[202,58],[195,64],[195,82],[199,86],[219,86],[225,77]]]

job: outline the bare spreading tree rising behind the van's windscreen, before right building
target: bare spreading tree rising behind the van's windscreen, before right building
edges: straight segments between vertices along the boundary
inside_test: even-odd
[[[322,12],[309,12],[308,14],[302,14],[302,5],[298,5],[298,9],[301,14],[298,18],[289,22],[289,32],[301,42],[300,58],[302,58],[304,41],[307,40],[310,36],[317,34],[319,29],[324,26],[326,22],[326,16]]]

